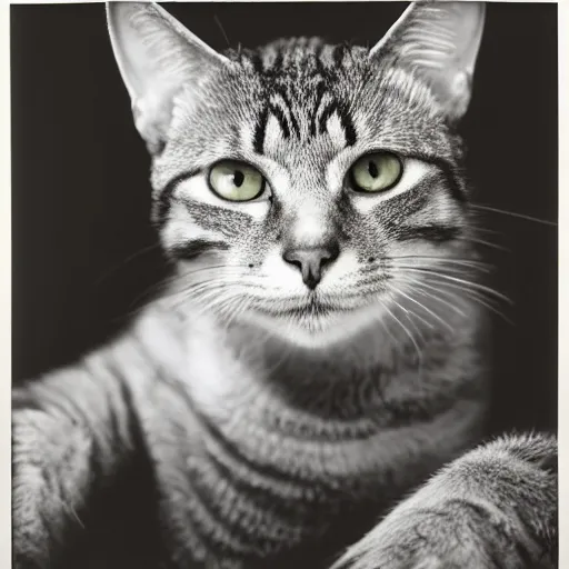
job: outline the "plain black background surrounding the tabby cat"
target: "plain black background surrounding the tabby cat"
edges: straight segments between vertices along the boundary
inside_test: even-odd
[[[216,49],[280,36],[372,46],[406,4],[167,4]],[[224,30],[224,31],[222,31]],[[120,330],[166,274],[149,222],[149,158],[103,4],[12,6],[13,379]],[[557,6],[488,4],[462,123],[476,201],[557,221]],[[493,428],[557,428],[557,228],[487,213]]]

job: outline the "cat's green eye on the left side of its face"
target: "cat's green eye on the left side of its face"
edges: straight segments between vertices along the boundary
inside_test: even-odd
[[[252,166],[223,160],[211,168],[209,186],[224,200],[250,201],[263,192],[264,178]]]

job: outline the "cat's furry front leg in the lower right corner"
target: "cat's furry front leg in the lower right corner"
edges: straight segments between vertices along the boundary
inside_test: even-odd
[[[332,569],[545,569],[557,558],[557,441],[511,436],[451,462]]]

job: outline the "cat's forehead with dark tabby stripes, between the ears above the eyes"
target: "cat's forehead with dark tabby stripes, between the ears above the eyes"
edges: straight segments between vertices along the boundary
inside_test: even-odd
[[[390,61],[370,62],[361,47],[292,38],[228,57],[234,63],[230,70],[201,92],[189,86],[180,98],[174,121],[180,138],[236,139],[247,124],[259,153],[267,132],[277,131],[272,138],[290,142],[336,133],[350,146],[361,126],[387,124],[389,116],[417,127],[440,114],[421,81]]]

